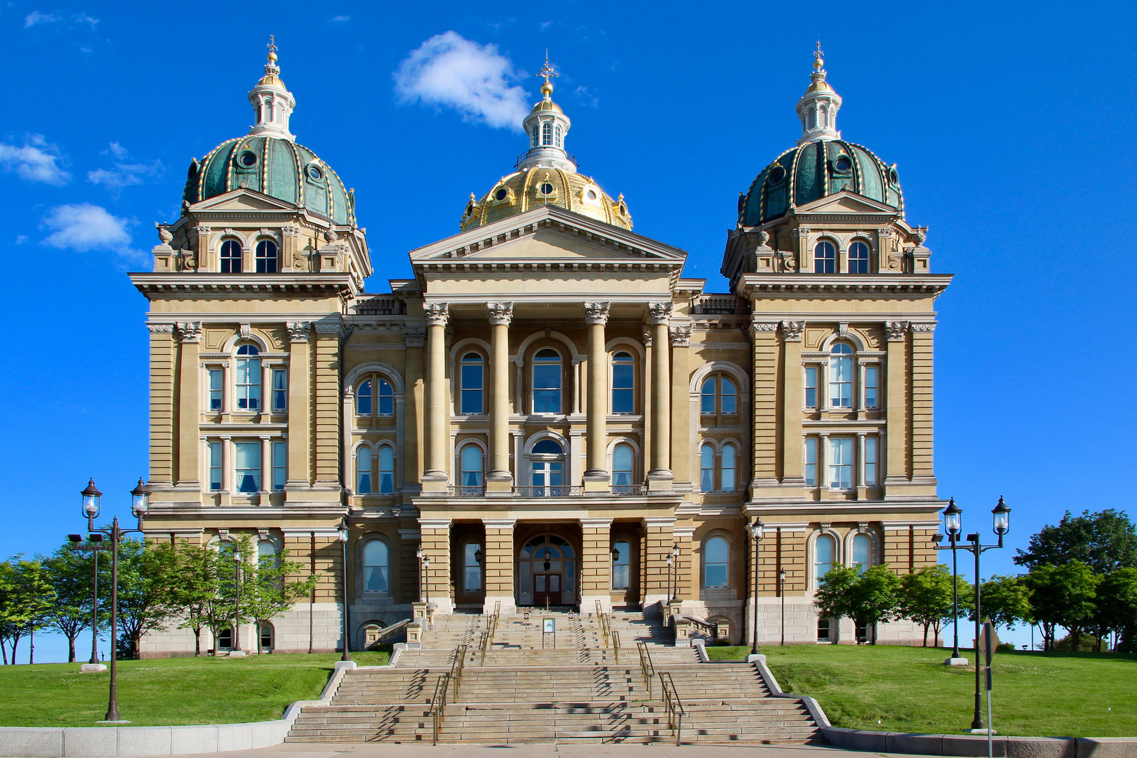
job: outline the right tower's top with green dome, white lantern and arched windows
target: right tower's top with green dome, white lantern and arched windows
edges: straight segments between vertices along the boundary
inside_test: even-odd
[[[896,164],[841,139],[841,97],[825,81],[821,45],[797,102],[802,135],[738,198],[722,274],[927,274],[926,228],[904,219]],[[824,227],[824,228],[822,228]]]

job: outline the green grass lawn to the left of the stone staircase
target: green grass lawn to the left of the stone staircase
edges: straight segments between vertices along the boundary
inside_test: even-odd
[[[360,666],[385,652],[352,652]],[[297,700],[314,700],[338,653],[166,658],[118,663],[118,713],[132,726],[235,724],[280,718]],[[0,667],[0,726],[93,726],[107,713],[109,673],[80,664]]]

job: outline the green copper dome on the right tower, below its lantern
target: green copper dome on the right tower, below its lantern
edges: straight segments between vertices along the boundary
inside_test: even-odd
[[[761,226],[788,210],[849,191],[904,210],[896,166],[844,140],[814,140],[787,150],[750,184],[738,200],[742,226]]]

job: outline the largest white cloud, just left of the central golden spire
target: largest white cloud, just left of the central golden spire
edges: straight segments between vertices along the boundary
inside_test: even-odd
[[[496,44],[480,45],[457,32],[435,34],[410,52],[395,72],[402,102],[454,108],[471,122],[521,130],[529,113],[513,61]]]

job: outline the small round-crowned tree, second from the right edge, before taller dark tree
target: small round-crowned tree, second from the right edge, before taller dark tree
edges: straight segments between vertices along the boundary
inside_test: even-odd
[[[1070,631],[1071,644],[1078,649],[1081,631],[1093,623],[1098,577],[1080,560],[1060,566],[1035,566],[1022,577],[1030,590],[1031,616],[1043,627],[1043,647],[1054,650],[1057,626]]]

